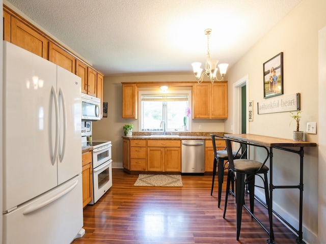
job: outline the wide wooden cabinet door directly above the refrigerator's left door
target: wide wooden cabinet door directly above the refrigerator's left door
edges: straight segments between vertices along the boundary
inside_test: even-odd
[[[8,39],[8,31],[5,30],[5,32],[7,35],[5,38]],[[48,58],[49,40],[14,17],[11,17],[11,43],[43,58]]]

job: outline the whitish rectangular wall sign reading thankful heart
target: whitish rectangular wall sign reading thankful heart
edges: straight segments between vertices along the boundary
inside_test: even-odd
[[[300,110],[300,93],[279,97],[280,98],[277,99],[268,99],[264,102],[258,102],[258,114]]]

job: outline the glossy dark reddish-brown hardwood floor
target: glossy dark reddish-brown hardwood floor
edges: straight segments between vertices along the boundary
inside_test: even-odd
[[[96,243],[266,243],[267,233],[242,211],[236,240],[235,199],[229,197],[223,219],[225,186],[218,208],[217,179],[210,196],[209,175],[182,175],[183,187],[134,187],[138,175],[113,169],[113,186],[84,209],[85,235],[73,244]],[[225,180],[226,181],[226,180]],[[267,210],[255,202],[255,214],[268,226]],[[296,243],[296,235],[275,217],[276,243]]]

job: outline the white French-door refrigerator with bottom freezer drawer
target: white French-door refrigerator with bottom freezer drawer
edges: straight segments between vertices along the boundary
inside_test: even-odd
[[[78,76],[4,41],[3,244],[70,243],[83,229]]]

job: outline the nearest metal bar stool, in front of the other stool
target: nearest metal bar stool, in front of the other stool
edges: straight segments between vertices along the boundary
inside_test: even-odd
[[[226,196],[225,196],[225,206],[224,206],[224,214],[223,218],[225,219],[226,209],[227,209],[227,202],[228,202],[228,195],[230,191],[230,183],[231,180],[234,180],[235,178],[235,202],[236,202],[236,239],[239,240],[240,236],[240,228],[241,228],[241,219],[242,219],[242,206],[246,207],[244,204],[244,193],[246,191],[245,189],[245,181],[248,183],[248,190],[249,190],[249,200],[250,200],[250,211],[246,207],[246,209],[250,212],[251,216],[255,218],[255,220],[264,228],[264,230],[269,234],[270,231],[267,230],[267,228],[264,227],[264,225],[254,216],[254,196],[255,196],[255,176],[260,174],[263,174],[264,177],[261,177],[261,179],[264,182],[264,190],[265,190],[265,200],[266,205],[268,208],[268,214],[269,214],[269,191],[268,191],[268,179],[267,179],[267,172],[269,168],[265,165],[269,154],[268,149],[264,146],[263,147],[266,150],[266,158],[263,163],[255,161],[255,160],[249,160],[249,159],[233,159],[232,154],[232,146],[231,141],[238,142],[243,144],[250,145],[250,143],[242,142],[238,140],[231,140],[228,138],[225,138],[225,143],[228,151],[228,159],[229,159],[229,170],[228,170],[228,177],[227,177],[227,186],[226,186]],[[269,216],[270,221],[271,216]],[[270,228],[272,228],[270,226]]]

